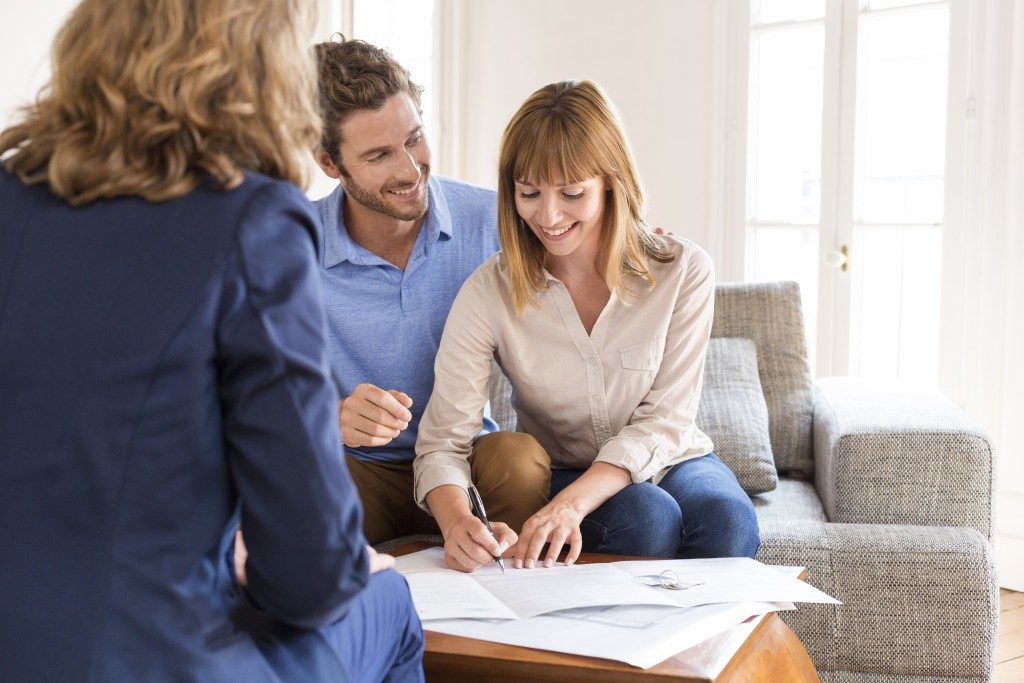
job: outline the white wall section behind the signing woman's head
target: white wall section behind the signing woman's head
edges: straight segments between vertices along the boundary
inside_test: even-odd
[[[471,0],[460,175],[494,186],[505,124],[537,88],[597,81],[622,112],[648,220],[708,241],[713,0]]]

